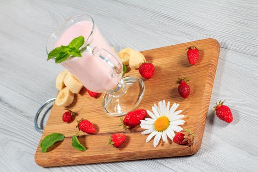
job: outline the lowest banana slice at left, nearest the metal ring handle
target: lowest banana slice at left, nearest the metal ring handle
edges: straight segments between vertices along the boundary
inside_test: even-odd
[[[56,97],[57,106],[69,106],[73,103],[74,93],[72,93],[67,87],[61,89]]]

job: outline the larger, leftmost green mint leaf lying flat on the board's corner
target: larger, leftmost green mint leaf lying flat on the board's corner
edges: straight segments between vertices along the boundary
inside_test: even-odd
[[[63,141],[64,135],[60,133],[52,133],[50,135],[47,135],[39,144],[41,147],[41,152],[45,153],[47,149],[52,146],[54,143]]]

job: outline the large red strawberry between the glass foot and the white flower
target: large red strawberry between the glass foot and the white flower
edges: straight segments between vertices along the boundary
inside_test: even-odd
[[[125,115],[124,120],[120,118],[122,122],[122,126],[124,129],[128,129],[130,127],[135,127],[137,125],[140,125],[141,121],[143,120],[147,115],[147,111],[144,109],[138,109],[129,112],[128,114]],[[119,126],[121,126],[119,125]]]

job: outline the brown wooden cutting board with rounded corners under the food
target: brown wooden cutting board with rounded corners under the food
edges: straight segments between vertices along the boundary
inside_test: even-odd
[[[199,61],[195,65],[189,64],[187,60],[185,49],[190,46],[196,46],[200,50]],[[166,102],[179,103],[178,110],[183,110],[182,114],[186,115],[184,118],[186,123],[182,127],[191,128],[195,132],[192,145],[178,145],[170,140],[169,143],[164,143],[161,140],[154,148],[153,139],[145,143],[148,135],[141,134],[143,129],[140,126],[123,130],[118,126],[119,117],[104,113],[103,94],[94,99],[84,88],[75,96],[70,107],[76,105],[74,111],[79,114],[77,119],[88,119],[96,126],[96,134],[88,135],[83,132],[79,134],[78,139],[87,150],[82,152],[71,146],[71,138],[78,132],[75,128],[77,122],[74,120],[68,124],[64,123],[62,121],[64,108],[54,105],[41,140],[54,132],[64,134],[65,139],[63,142],[55,143],[46,153],[42,153],[38,146],[35,153],[36,163],[39,166],[51,167],[195,154],[201,147],[219,53],[220,44],[211,38],[142,52],[147,62],[154,64],[155,72],[151,79],[143,80],[145,94],[138,108],[151,110],[154,103],[157,104],[163,99]],[[130,70],[125,76],[141,77],[138,70]],[[190,79],[191,92],[187,99],[181,98],[177,92],[177,84],[174,81],[178,77]],[[127,137],[119,148],[105,145],[113,133],[125,133]]]

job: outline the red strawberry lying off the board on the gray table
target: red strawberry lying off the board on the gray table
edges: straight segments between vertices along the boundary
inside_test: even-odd
[[[220,119],[230,123],[233,120],[233,116],[232,116],[230,108],[226,105],[223,105],[224,102],[225,101],[223,101],[223,102],[220,101],[219,104],[216,103],[216,106],[214,107],[215,108],[214,112],[216,111],[216,115]]]

